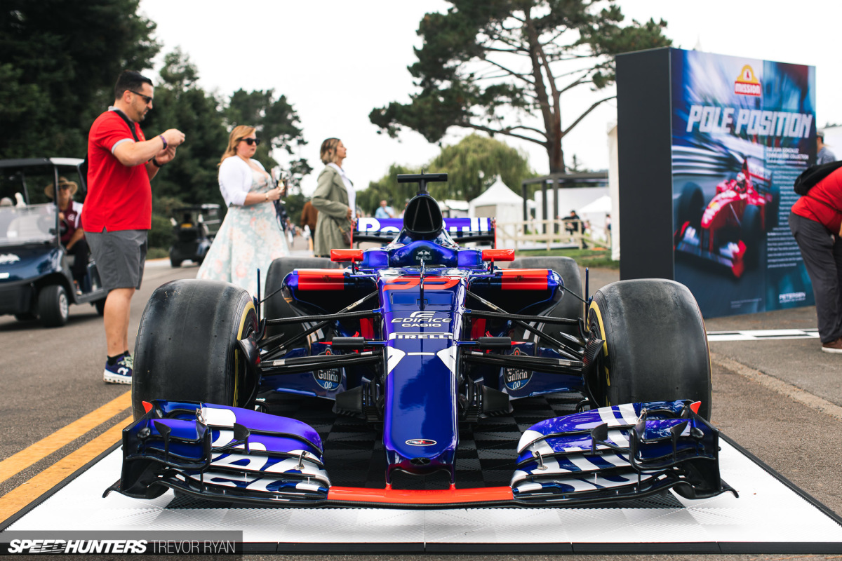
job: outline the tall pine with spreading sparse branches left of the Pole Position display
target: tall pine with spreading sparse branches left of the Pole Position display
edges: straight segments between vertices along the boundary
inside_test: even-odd
[[[409,71],[420,91],[410,103],[375,108],[369,119],[389,135],[406,127],[430,142],[451,126],[528,140],[544,146],[551,172],[565,170],[564,136],[615,97],[597,99],[562,126],[562,93],[585,85],[603,90],[614,82],[616,54],[671,43],[663,20],[623,26],[614,0],[450,3],[447,13],[427,13],[418,26],[424,45]],[[533,114],[541,124],[525,124]]]

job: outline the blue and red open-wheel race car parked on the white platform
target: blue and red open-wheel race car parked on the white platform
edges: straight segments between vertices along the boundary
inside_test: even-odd
[[[498,267],[513,250],[467,246],[493,243],[493,220],[444,220],[427,193],[427,183],[446,177],[398,176],[418,183],[418,195],[402,219],[360,220],[354,241],[385,245],[333,250],[333,262],[349,264],[343,269],[276,260],[266,317],[259,296],[232,284],[157,288],[136,341],[135,421],[123,431],[121,479],[109,490],[392,508],[733,492],[719,475],[710,357],[689,290],[634,280],[583,299],[572,259]],[[510,474],[505,484],[457,477],[466,430],[559,393],[579,396],[569,415],[525,425],[520,442],[494,451],[496,468]],[[347,466],[329,460],[324,426],[273,414],[278,395],[326,400],[331,415],[366,423],[377,442],[371,454],[385,457],[376,484],[334,483]],[[418,478],[444,484],[405,484]]]

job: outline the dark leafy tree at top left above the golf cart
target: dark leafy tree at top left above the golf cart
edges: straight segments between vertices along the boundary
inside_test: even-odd
[[[4,0],[0,157],[84,156],[117,75],[151,66],[155,24],[139,0]]]

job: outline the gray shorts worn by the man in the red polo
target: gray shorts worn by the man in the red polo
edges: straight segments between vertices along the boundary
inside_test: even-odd
[[[85,232],[103,287],[141,288],[147,262],[147,230]]]

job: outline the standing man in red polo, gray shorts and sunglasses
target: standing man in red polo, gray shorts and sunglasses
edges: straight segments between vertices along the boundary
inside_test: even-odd
[[[83,227],[99,277],[108,290],[104,324],[108,358],[103,379],[131,384],[131,297],[141,288],[152,227],[152,187],[158,169],[184,142],[170,129],[146,140],[138,123],[152,108],[152,81],[135,71],[117,78],[113,107],[99,115],[88,135],[88,196]]]

